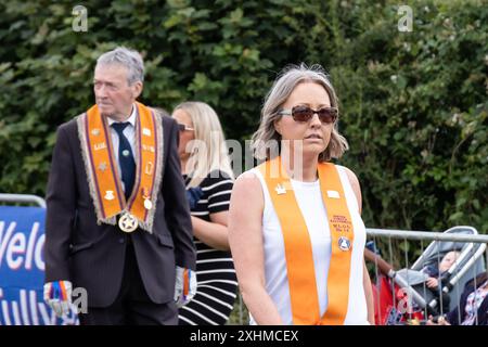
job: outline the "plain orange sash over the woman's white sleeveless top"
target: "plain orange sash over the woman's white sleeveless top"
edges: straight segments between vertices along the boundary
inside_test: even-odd
[[[354,230],[337,168],[331,163],[319,163],[318,166],[332,241],[329,305],[323,317],[320,317],[310,236],[281,157],[262,163],[258,169],[265,178],[283,232],[294,324],[344,324],[349,300]]]

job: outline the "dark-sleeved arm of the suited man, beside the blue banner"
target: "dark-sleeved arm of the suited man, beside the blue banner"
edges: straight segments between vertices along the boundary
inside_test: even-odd
[[[66,126],[57,129],[46,194],[46,282],[70,281],[69,244],[76,216],[77,188]]]

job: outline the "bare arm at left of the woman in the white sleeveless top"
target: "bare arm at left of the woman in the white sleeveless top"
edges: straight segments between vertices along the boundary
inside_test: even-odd
[[[265,286],[264,205],[259,179],[251,172],[242,175],[232,190],[229,244],[241,293],[251,314],[260,325],[282,324]]]

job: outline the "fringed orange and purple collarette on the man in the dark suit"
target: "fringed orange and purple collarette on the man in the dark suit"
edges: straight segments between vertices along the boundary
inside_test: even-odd
[[[129,213],[138,219],[139,227],[152,232],[160,183],[163,124],[151,108],[138,102],[136,106],[137,169],[132,194],[128,201],[124,195],[110,127],[97,105],[78,117],[78,131],[98,222],[115,224],[117,215]]]

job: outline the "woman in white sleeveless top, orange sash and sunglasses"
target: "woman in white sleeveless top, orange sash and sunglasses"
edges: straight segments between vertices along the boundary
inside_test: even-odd
[[[229,241],[251,324],[374,322],[356,175],[335,91],[320,66],[285,69],[269,91],[255,156],[236,180]]]

